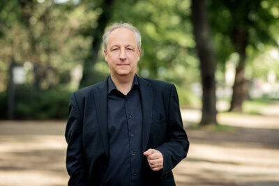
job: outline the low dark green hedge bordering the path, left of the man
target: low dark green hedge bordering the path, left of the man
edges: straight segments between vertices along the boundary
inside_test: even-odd
[[[71,92],[63,88],[35,93],[30,86],[17,86],[15,90],[15,119],[66,119]],[[0,118],[7,118],[7,93],[0,93]]]

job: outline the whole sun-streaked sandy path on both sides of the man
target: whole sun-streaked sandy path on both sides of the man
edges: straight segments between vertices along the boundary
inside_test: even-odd
[[[200,112],[183,110],[190,150],[174,169],[176,184],[278,186],[279,104],[271,109],[263,116],[219,114],[220,123],[234,126],[229,132],[190,130]],[[0,121],[0,186],[67,185],[65,126]]]

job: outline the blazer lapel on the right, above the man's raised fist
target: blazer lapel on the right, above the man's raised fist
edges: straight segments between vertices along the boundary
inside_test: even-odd
[[[153,90],[151,84],[138,77],[140,84],[140,97],[142,100],[142,150],[146,150],[149,141],[150,127],[153,111]]]

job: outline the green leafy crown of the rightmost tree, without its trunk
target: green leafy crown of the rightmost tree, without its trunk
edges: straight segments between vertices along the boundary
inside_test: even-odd
[[[278,46],[276,39],[278,40],[279,37],[279,1],[256,0],[251,3],[249,0],[220,0],[208,1],[208,5],[218,69],[224,71],[224,65],[229,61],[229,56],[233,52],[238,52],[234,45],[234,32],[239,29],[248,31],[246,59],[248,68],[252,70],[252,77],[261,77],[262,74],[260,75],[258,71],[269,66],[271,61],[258,58],[262,58],[260,55],[270,48],[266,47],[267,45]],[[262,67],[254,67],[255,59],[261,61]],[[271,68],[268,67],[268,69]],[[264,73],[267,71],[264,70]]]

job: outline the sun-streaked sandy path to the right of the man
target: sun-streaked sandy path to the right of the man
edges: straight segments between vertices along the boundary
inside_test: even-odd
[[[184,124],[197,123],[201,112],[182,110]],[[229,132],[186,130],[190,150],[174,169],[182,185],[279,185],[279,103],[264,107],[262,116],[218,114]]]

